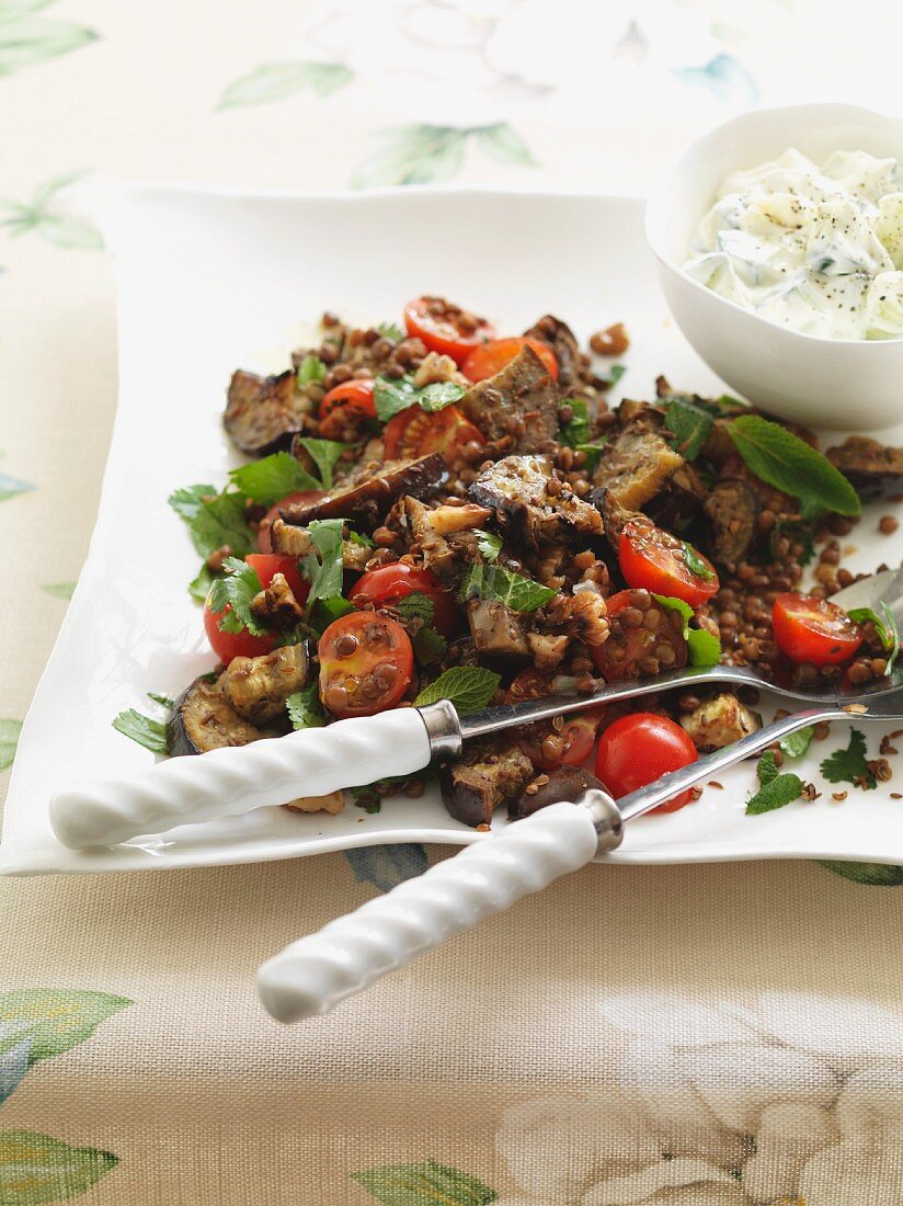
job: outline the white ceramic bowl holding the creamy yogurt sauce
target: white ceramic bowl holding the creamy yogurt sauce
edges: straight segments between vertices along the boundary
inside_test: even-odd
[[[903,158],[903,121],[852,105],[744,113],[684,152],[646,210],[646,236],[668,305],[696,351],[738,393],[781,418],[817,427],[890,427],[903,420],[903,339],[823,339],[767,322],[692,280],[682,264],[725,176],[796,147]]]

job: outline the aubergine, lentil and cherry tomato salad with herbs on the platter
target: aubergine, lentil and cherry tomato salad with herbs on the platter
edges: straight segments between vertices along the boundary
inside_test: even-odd
[[[808,431],[664,377],[611,409],[620,323],[585,352],[552,315],[499,333],[426,295],[403,317],[360,328],[324,314],[318,346],[286,371],[234,374],[223,422],[250,459],[225,487],[169,499],[203,558],[189,591],[218,666],[175,702],[153,697],[166,720],[122,713],[127,736],[204,754],[439,698],[467,713],[719,660],[797,684],[889,673],[892,616],[831,596],[854,580],[839,538],[861,499],[903,494],[903,449],[851,437],[822,453]],[[756,703],[716,689],[587,707],[351,795],[376,810],[438,773],[451,815],[485,827],[499,804],[522,816],[599,780],[633,791],[757,728]],[[747,810],[815,798],[785,763],[826,732],[766,751]],[[873,788],[890,766],[854,730],[821,772]],[[288,807],[334,813],[345,796]]]

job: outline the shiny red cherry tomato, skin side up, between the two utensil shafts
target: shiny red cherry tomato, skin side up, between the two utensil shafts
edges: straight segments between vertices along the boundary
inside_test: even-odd
[[[609,725],[599,738],[596,775],[615,800],[620,800],[696,760],[696,745],[680,725],[653,712],[634,712]],[[655,812],[676,812],[692,798],[691,788],[659,804]]]

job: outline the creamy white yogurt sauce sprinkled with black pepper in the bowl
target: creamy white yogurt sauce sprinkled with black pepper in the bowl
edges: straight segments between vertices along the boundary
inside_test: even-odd
[[[903,336],[903,163],[791,148],[735,171],[684,270],[762,318],[827,339]]]

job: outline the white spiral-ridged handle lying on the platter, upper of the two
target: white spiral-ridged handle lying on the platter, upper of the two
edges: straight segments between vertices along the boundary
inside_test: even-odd
[[[51,825],[57,839],[74,850],[107,845],[411,774],[429,757],[420,712],[398,708],[200,757],[174,757],[140,777],[98,779],[59,791],[51,801]]]

